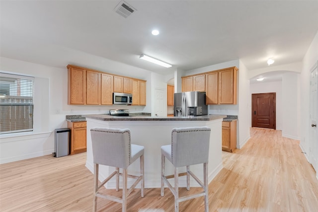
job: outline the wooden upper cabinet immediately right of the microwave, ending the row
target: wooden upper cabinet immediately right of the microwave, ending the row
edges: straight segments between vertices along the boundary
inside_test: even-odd
[[[132,105],[146,105],[146,81],[132,79]]]

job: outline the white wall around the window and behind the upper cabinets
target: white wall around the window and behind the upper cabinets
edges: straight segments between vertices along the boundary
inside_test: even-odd
[[[131,112],[151,112],[151,71],[105,59],[101,60],[84,53],[78,56],[82,57],[83,63],[85,63],[76,64],[78,66],[147,80],[147,106],[123,105],[121,108],[127,108]],[[68,64],[65,64],[65,68],[56,68],[3,57],[0,58],[0,61],[0,71],[35,77],[34,132],[0,135],[0,163],[54,152],[54,130],[67,127],[66,115],[108,113],[109,109],[118,108],[113,105],[68,105],[66,68]],[[123,70],[129,71],[125,73]],[[159,82],[160,78],[156,78],[156,83]]]

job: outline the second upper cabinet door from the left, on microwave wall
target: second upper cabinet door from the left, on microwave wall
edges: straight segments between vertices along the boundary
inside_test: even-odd
[[[86,71],[86,104],[100,104],[101,73]]]

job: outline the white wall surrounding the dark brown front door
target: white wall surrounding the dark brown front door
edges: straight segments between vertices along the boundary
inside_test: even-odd
[[[253,93],[276,93],[276,130],[283,130],[282,86],[282,80],[250,84],[250,96]]]

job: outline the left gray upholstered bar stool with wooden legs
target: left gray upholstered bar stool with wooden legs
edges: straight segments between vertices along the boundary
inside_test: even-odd
[[[94,201],[93,211],[97,210],[97,197],[115,201],[122,204],[122,212],[126,212],[127,196],[136,185],[141,182],[141,196],[144,197],[144,146],[131,144],[129,129],[92,128],[90,130],[93,162],[94,162]],[[128,175],[127,168],[136,159],[140,158],[140,176]],[[98,185],[98,164],[116,167],[111,175]],[[119,172],[123,169],[123,173]],[[119,191],[119,176],[123,177],[122,198],[103,195],[98,190],[116,175],[116,191]],[[127,177],[136,179],[127,190]]]

